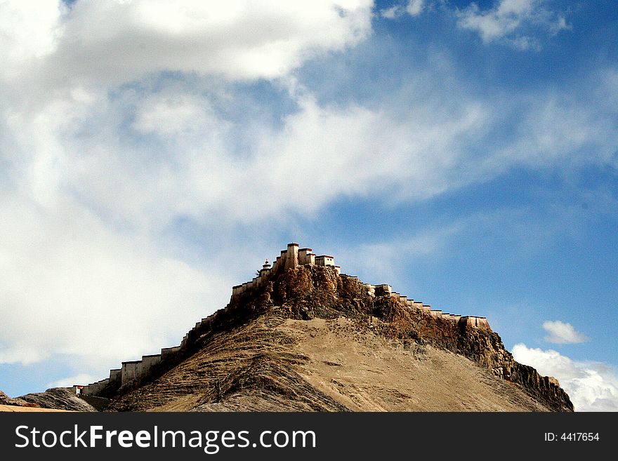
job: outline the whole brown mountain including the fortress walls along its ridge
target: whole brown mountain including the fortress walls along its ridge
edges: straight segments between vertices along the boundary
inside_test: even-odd
[[[74,387],[108,411],[573,411],[487,319],[431,309],[291,243],[178,347]]]

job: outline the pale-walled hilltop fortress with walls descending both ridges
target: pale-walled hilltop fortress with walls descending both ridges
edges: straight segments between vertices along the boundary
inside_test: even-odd
[[[312,251],[313,250],[311,248],[299,249],[298,243],[289,243],[287,249],[282,250],[281,254],[277,256],[277,259],[275,260],[272,267],[270,266],[270,264],[268,264],[267,260],[265,265],[263,265],[262,269],[260,269],[258,275],[253,280],[242,283],[242,285],[232,287],[232,297],[230,299],[230,304],[246,291],[262,286],[263,283],[275,279],[275,276],[281,274],[282,272],[290,269],[294,270],[297,267],[303,265],[331,267],[332,270],[336,271],[337,274],[340,274],[341,277],[346,277],[348,279],[357,279],[357,277],[355,276],[341,274],[341,269],[340,267],[335,265],[335,260],[333,256],[316,256],[315,253],[312,253]],[[489,323],[487,322],[487,319],[485,319],[485,317],[461,316],[459,314],[455,315],[449,314],[447,312],[442,312],[442,310],[439,309],[431,309],[429,305],[423,304],[423,302],[415,301],[412,298],[408,299],[407,296],[400,295],[399,293],[393,291],[390,285],[371,285],[369,283],[365,283],[363,286],[367,289],[367,293],[369,295],[390,296],[390,298],[394,298],[395,301],[400,302],[408,309],[420,309],[421,311],[426,312],[427,314],[434,317],[441,317],[442,319],[453,321],[459,324],[464,323],[466,324],[466,326],[489,330]],[[204,328],[207,328],[211,323],[213,323],[213,321],[217,319],[218,315],[228,310],[230,304],[228,304],[225,309],[219,309],[211,316],[208,316],[205,319],[202,319],[201,321],[195,323],[195,327],[192,328],[192,330],[190,330],[184,336],[182,342],[180,342],[180,345],[161,349],[160,354],[142,356],[140,360],[122,362],[121,368],[110,370],[109,378],[105,378],[104,380],[100,380],[89,385],[74,385],[74,392],[76,392],[77,394],[96,396],[100,394],[103,389],[117,389],[123,385],[129,384],[133,380],[139,380],[141,378],[144,378],[150,373],[152,368],[158,366],[159,363],[165,361],[173,361],[177,354],[180,354],[180,352],[182,352],[182,350],[187,347],[188,340],[190,338],[195,338],[197,333],[199,333],[199,330],[203,330]]]

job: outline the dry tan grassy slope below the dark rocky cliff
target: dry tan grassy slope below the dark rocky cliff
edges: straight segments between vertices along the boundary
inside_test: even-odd
[[[129,392],[110,410],[544,411],[465,357],[388,340],[345,317],[276,311],[213,335],[204,349]]]

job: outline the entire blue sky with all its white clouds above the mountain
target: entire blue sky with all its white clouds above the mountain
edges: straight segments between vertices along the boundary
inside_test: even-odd
[[[0,389],[175,345],[289,241],[618,410],[613,1],[7,1]]]

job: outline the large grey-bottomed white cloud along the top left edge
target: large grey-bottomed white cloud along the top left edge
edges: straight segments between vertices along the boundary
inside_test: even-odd
[[[41,12],[39,4],[3,4],[0,20],[11,24],[3,26],[3,51],[22,72],[54,86],[121,83],[164,69],[232,80],[285,76],[307,59],[365,39],[373,6],[372,0],[81,0],[62,15],[60,1],[44,2]]]

